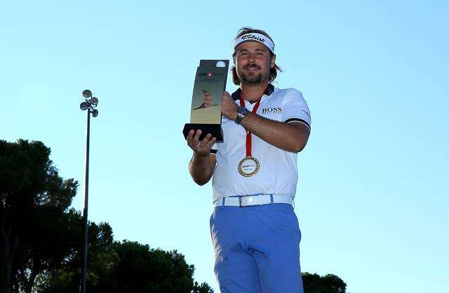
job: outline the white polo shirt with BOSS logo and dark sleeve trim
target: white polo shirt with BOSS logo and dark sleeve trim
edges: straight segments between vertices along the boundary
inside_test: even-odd
[[[240,93],[238,89],[232,94],[237,104]],[[255,103],[245,101],[249,111],[254,106]],[[304,123],[308,128],[311,125],[307,102],[294,88],[279,89],[270,84],[256,114],[274,121]],[[214,202],[228,196],[260,193],[284,194],[295,198],[297,153],[283,151],[253,134],[251,154],[260,162],[260,169],[252,177],[243,177],[237,167],[246,156],[246,130],[225,116],[222,117],[222,130],[224,142],[214,144],[210,150],[211,154],[216,154],[217,161],[212,180]]]

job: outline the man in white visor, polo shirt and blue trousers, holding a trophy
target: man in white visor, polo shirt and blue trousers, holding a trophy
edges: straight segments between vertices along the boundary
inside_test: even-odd
[[[201,130],[187,136],[194,182],[213,177],[215,275],[222,293],[302,293],[293,198],[309,108],[297,90],[272,86],[279,67],[266,32],[240,29],[232,57],[239,89],[222,96],[225,142],[210,134],[200,142]]]

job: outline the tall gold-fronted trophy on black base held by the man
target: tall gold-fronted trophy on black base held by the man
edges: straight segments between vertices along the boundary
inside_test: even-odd
[[[199,140],[208,133],[223,142],[222,95],[226,88],[229,60],[200,60],[196,69],[190,123],[186,123],[182,134],[185,139],[190,130],[200,130]]]

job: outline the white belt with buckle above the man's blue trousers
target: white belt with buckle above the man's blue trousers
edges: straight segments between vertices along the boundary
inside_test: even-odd
[[[256,196],[230,196],[215,200],[215,207],[223,205],[232,207],[249,207],[251,205],[271,205],[272,203],[288,203],[293,205],[293,198],[283,194],[259,194]]]

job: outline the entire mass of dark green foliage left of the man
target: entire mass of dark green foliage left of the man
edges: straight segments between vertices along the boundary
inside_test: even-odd
[[[79,292],[78,183],[62,179],[41,142],[0,140],[0,293]],[[88,292],[212,293],[176,250],[114,242],[107,223],[88,224]]]

